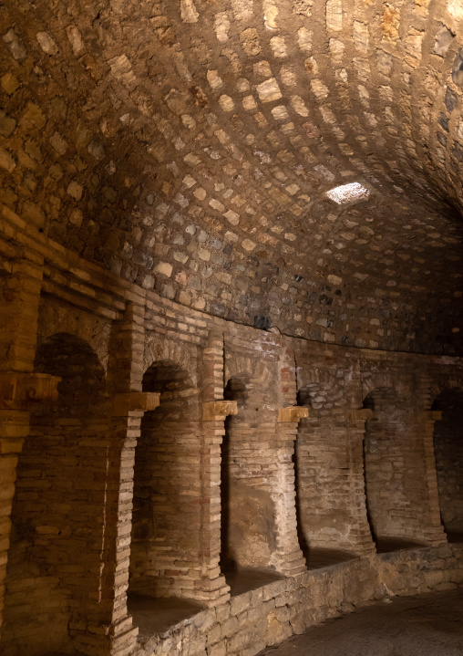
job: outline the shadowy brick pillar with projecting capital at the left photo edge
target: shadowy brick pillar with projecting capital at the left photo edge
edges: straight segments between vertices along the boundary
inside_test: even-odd
[[[42,266],[43,259],[30,254],[12,261],[0,288],[0,630],[16,464],[29,432],[29,403],[34,396],[39,401],[46,392],[55,393],[57,385],[57,380],[25,375],[34,370]]]

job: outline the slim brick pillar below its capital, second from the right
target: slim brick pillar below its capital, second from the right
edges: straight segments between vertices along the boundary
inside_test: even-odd
[[[365,556],[376,551],[366,515],[364,439],[365,422],[373,411],[368,409],[346,411],[348,426],[349,495],[351,507],[351,541],[354,551]]]

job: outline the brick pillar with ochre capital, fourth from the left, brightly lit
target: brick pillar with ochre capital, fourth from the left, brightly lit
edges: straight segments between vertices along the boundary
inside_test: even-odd
[[[305,558],[297,536],[296,496],[294,478],[294,442],[297,424],[309,416],[307,408],[291,406],[278,409],[277,445],[273,484],[275,508],[276,550],[272,565],[285,576],[296,576],[305,571]]]

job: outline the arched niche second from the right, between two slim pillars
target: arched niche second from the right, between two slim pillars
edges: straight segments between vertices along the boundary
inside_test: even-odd
[[[389,387],[370,391],[364,408],[372,412],[365,422],[364,471],[367,519],[376,550],[422,546],[426,466],[412,409]]]

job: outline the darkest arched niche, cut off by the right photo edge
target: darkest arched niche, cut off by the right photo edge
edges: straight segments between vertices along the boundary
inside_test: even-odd
[[[440,516],[449,541],[463,541],[463,390],[442,391],[432,405]]]

